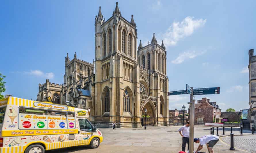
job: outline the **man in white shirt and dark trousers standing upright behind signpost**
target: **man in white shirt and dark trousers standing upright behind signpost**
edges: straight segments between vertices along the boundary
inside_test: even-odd
[[[189,121],[187,121],[186,125],[179,128],[179,134],[182,136],[182,151],[185,152],[186,144],[188,143],[189,150]]]

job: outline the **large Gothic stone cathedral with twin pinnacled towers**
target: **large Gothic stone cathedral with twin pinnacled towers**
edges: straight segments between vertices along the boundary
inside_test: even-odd
[[[98,127],[163,126],[168,123],[167,52],[163,41],[137,47],[137,29],[125,19],[118,3],[105,20],[101,7],[95,17],[95,60],[65,58],[64,83],[39,84],[38,101],[90,109]],[[67,103],[69,101],[69,103]]]

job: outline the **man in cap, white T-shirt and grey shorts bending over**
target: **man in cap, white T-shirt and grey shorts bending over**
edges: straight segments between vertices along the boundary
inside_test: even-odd
[[[205,144],[207,145],[208,152],[213,153],[213,146],[217,144],[218,141],[219,137],[215,135],[206,135],[202,138],[194,138],[195,143],[200,143],[196,150],[196,153],[199,152]]]

